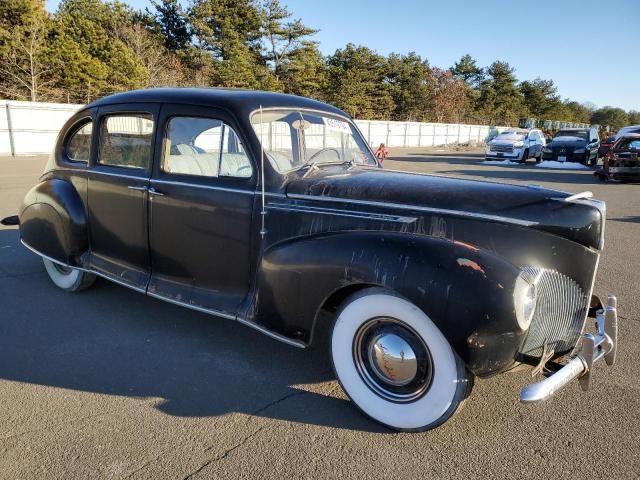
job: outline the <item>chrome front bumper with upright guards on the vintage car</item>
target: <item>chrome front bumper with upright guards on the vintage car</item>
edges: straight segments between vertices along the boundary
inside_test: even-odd
[[[562,368],[550,374],[544,380],[531,383],[520,391],[520,401],[537,403],[547,400],[551,395],[578,378],[583,390],[589,390],[593,365],[604,358],[611,366],[616,361],[618,342],[618,301],[609,295],[607,306],[596,314],[596,333],[585,333],[580,352]]]

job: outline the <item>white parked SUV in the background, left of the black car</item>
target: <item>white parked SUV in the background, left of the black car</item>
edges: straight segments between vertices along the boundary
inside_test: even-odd
[[[485,160],[500,159],[524,163],[533,157],[539,162],[546,140],[541,130],[510,129],[487,143]]]

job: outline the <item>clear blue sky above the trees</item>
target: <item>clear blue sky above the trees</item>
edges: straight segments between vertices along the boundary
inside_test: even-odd
[[[481,66],[509,62],[519,80],[550,78],[563,97],[640,110],[640,0],[281,1],[320,29],[325,54],[351,42],[448,68],[469,53]]]

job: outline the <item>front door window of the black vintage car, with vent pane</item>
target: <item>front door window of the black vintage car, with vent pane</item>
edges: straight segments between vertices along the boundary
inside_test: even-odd
[[[250,178],[251,161],[235,131],[220,120],[173,117],[162,170],[178,175]]]

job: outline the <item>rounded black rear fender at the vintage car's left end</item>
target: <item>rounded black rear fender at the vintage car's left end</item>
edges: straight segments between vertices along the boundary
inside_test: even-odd
[[[54,260],[79,265],[78,258],[89,247],[87,217],[71,183],[60,179],[39,183],[27,193],[19,217],[24,243]]]

